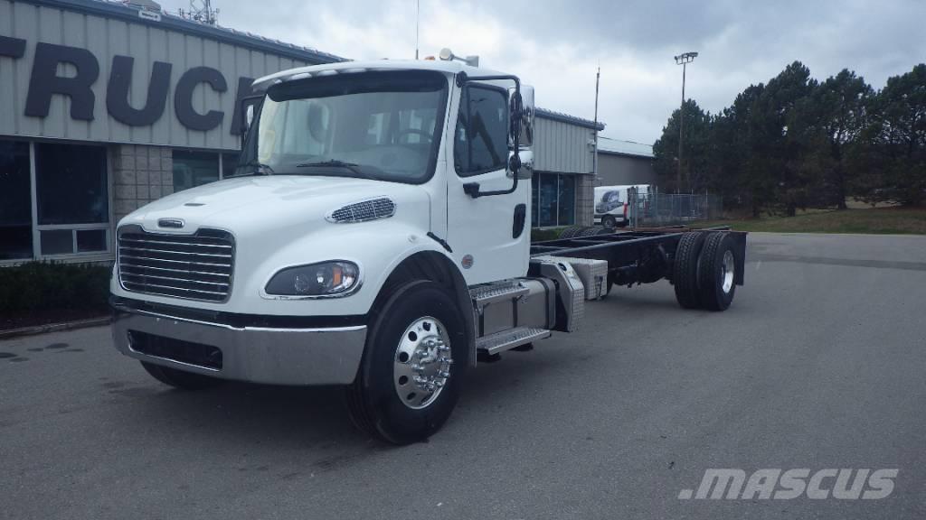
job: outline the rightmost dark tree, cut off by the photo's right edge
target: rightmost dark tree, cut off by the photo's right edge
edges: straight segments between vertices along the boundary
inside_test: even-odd
[[[869,122],[853,161],[863,198],[926,202],[926,64],[887,80],[870,103]]]

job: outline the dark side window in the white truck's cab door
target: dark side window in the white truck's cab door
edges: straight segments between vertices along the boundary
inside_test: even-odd
[[[454,131],[454,165],[467,177],[507,167],[507,94],[469,85]]]

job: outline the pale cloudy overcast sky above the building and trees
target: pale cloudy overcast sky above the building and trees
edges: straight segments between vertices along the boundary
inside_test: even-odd
[[[415,56],[416,0],[212,0],[219,24],[353,59]],[[162,0],[168,10],[188,0]],[[518,74],[536,103],[594,117],[603,135],[655,141],[682,95],[672,56],[700,53],[685,93],[711,112],[800,60],[881,88],[926,60],[924,0],[420,0],[421,56],[450,47]]]

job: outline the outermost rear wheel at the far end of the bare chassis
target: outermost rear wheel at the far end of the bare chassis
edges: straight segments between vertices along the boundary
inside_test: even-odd
[[[701,306],[710,311],[725,311],[736,293],[734,282],[736,254],[728,233],[711,233],[698,263],[698,286]]]

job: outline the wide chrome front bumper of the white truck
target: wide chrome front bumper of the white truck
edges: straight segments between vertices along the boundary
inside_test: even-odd
[[[275,385],[349,384],[357,376],[367,327],[235,328],[194,319],[113,306],[113,341],[119,352],[144,362],[215,378]],[[220,351],[219,363],[179,361],[139,350],[139,338],[155,338],[182,353],[194,348]],[[166,340],[165,340],[166,339]],[[171,340],[175,340],[172,342]],[[179,341],[177,343],[176,341]],[[135,347],[133,348],[133,343]],[[180,355],[176,357],[181,357]]]

